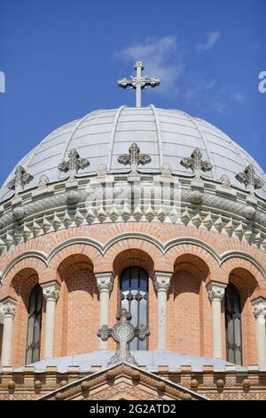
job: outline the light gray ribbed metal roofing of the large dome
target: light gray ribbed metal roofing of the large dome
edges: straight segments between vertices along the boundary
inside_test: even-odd
[[[128,173],[129,166],[119,164],[117,158],[128,153],[133,141],[137,142],[141,152],[152,157],[150,164],[139,167],[141,173],[160,173],[160,166],[169,163],[174,174],[191,175],[191,170],[180,165],[180,160],[190,157],[193,149],[200,148],[203,158],[213,165],[204,177],[219,181],[225,173],[232,185],[245,189],[236,181],[235,175],[252,164],[264,183],[257,194],[266,198],[266,175],[262,167],[236,142],[200,118],[191,117],[181,110],[155,109],[153,105],[100,109],[60,126],[20,161],[19,165],[34,176],[25,189],[34,188],[44,173],[51,182],[63,180],[66,173],[60,172],[58,165],[68,159],[71,149],[77,149],[81,157],[90,159],[89,167],[80,171],[79,177],[95,174],[99,164],[106,164],[109,173]],[[14,170],[4,182],[0,201],[12,196],[6,184],[12,179]]]

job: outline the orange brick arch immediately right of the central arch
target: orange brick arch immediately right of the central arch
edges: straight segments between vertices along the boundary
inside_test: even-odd
[[[205,278],[208,280],[224,281],[223,271],[220,269],[219,263],[215,260],[212,253],[207,252],[205,248],[196,244],[179,244],[172,246],[165,255],[166,263],[172,265],[173,269],[177,265],[176,262],[190,262],[194,266],[193,269],[200,269],[201,274],[205,272]]]

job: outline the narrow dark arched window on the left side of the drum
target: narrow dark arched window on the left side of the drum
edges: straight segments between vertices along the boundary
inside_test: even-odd
[[[35,285],[28,301],[26,365],[40,359],[42,310],[43,289]]]

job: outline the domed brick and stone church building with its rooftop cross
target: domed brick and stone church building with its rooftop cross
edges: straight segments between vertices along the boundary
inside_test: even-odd
[[[142,107],[136,69],[136,108],[59,127],[0,191],[0,399],[266,399],[266,175]],[[149,333],[106,366],[121,309]]]

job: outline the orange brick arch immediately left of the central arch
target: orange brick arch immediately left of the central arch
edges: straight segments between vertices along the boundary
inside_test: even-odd
[[[45,273],[43,274],[42,283],[49,282],[55,279],[58,279],[60,282],[59,266],[63,261],[68,259],[68,257],[72,256],[86,257],[86,259],[93,266],[93,269],[95,264],[99,263],[103,259],[102,255],[95,247],[87,244],[72,243],[71,245],[67,245],[62,249],[59,249],[59,251],[55,253],[53,257],[51,257],[51,260],[48,263],[48,267]],[[98,261],[98,259],[100,259],[100,261]]]

